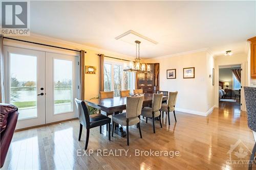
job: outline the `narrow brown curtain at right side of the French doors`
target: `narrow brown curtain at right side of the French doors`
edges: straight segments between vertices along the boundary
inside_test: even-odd
[[[84,54],[86,52],[84,52],[83,50],[80,51],[80,94],[79,94],[79,98],[81,101],[84,100],[84,74],[85,74],[85,70],[84,70]]]

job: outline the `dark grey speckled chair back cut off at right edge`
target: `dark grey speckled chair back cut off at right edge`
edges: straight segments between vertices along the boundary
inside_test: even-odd
[[[244,87],[248,127],[256,132],[256,87]]]

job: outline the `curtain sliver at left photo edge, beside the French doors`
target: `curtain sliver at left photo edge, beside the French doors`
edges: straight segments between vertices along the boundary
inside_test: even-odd
[[[4,36],[0,36],[0,103],[4,103],[5,101],[5,93],[4,93],[4,44],[3,44]]]

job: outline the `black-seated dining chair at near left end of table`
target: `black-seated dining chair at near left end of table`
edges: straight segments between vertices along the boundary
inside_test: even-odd
[[[85,150],[87,150],[87,147],[88,147],[90,129],[92,128],[102,126],[102,125],[109,125],[109,140],[110,140],[111,118],[103,114],[89,115],[87,105],[84,101],[80,101],[76,98],[75,103],[78,110],[78,117],[79,117],[79,123],[80,123],[80,130],[79,130],[79,137],[78,137],[79,141],[81,139],[82,126],[86,127],[87,129]]]

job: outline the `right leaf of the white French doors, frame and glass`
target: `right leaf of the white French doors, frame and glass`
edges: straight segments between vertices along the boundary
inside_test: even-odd
[[[78,57],[46,53],[46,122],[77,117]]]

